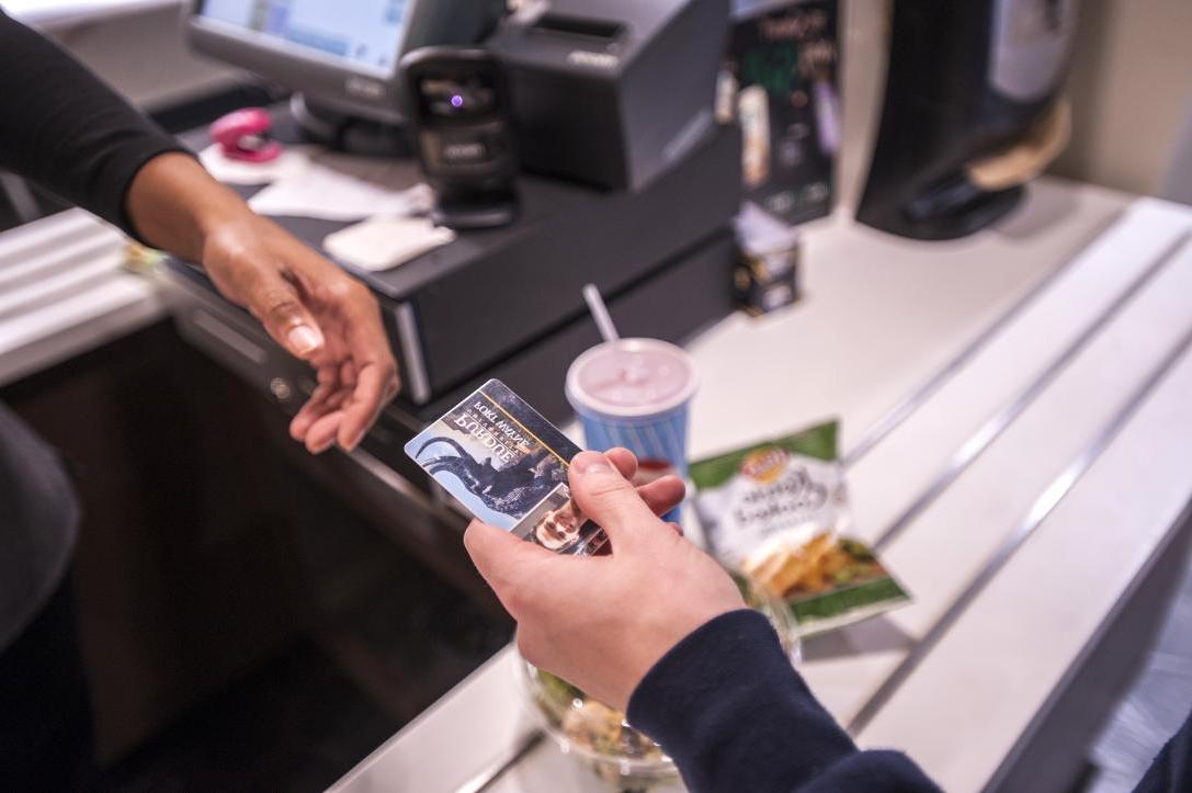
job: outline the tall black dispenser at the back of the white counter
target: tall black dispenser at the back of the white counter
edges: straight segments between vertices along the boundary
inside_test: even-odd
[[[857,219],[951,240],[1013,209],[1068,140],[1075,17],[1076,0],[894,0]]]

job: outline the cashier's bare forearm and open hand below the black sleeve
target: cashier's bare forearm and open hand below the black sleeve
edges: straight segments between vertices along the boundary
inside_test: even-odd
[[[136,230],[201,262],[219,291],[317,372],[290,432],[318,453],[354,448],[397,394],[397,365],[368,290],[279,225],[253,212],[185,154],[162,154],[126,194]]]

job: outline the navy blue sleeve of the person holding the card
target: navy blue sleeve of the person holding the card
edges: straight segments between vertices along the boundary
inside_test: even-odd
[[[905,755],[859,751],[752,611],[675,645],[638,684],[628,715],[695,793],[938,791]]]

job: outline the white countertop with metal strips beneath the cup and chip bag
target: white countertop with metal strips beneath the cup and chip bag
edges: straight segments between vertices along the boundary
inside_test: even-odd
[[[1055,179],[957,242],[838,215],[807,228],[801,305],[690,345],[694,457],[831,416],[849,453],[937,386],[850,460],[859,535],[913,508],[884,555],[915,601],[805,648],[862,745],[980,789],[1166,546],[1192,497],[1190,231],[1190,207]],[[498,655],[339,789],[457,789],[529,724],[514,662]],[[547,745],[491,789],[606,788]]]

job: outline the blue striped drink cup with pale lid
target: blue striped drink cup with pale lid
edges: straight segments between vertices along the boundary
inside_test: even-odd
[[[588,448],[625,446],[638,456],[635,482],[687,477],[688,408],[699,386],[695,364],[658,339],[619,339],[586,351],[567,370],[567,401]],[[664,516],[678,520],[678,509]]]

